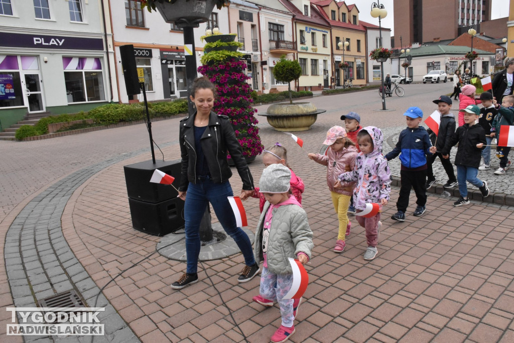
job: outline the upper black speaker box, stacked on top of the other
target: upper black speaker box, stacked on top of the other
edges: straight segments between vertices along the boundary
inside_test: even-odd
[[[175,198],[178,192],[172,186],[150,182],[152,174],[156,169],[173,176],[175,178],[173,186],[178,188],[180,184],[179,159],[174,161],[155,161],[155,164],[152,163],[152,160],[148,160],[123,166],[128,197],[153,204]]]

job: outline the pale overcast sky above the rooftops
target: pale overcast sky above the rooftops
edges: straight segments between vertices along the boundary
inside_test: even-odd
[[[373,0],[347,0],[346,4],[355,4],[359,9],[359,19],[365,22],[378,25],[378,18],[370,15],[371,4],[376,1]],[[388,14],[381,20],[382,27],[391,29],[391,35],[394,35],[394,13],[393,13],[393,0],[381,0],[381,5],[384,5]],[[493,0],[491,9],[491,19],[498,19],[508,16],[509,0]]]

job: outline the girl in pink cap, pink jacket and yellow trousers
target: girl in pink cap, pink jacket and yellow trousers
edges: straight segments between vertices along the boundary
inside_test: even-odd
[[[350,234],[352,223],[348,220],[348,206],[352,198],[356,182],[344,182],[340,189],[335,188],[337,177],[347,171],[354,170],[357,148],[352,140],[346,137],[346,131],[335,126],[330,128],[326,134],[324,145],[330,146],[326,155],[308,154],[310,159],[326,166],[326,183],[332,195],[334,209],[339,219],[339,234],[337,236],[335,252],[343,252],[346,243],[344,239]]]

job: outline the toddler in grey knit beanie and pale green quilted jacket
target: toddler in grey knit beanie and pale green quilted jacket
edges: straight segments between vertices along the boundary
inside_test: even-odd
[[[272,342],[283,342],[295,333],[293,320],[298,314],[300,299],[283,299],[292,286],[292,269],[288,258],[308,262],[314,247],[313,231],[307,214],[296,198],[289,194],[291,171],[282,164],[272,164],[263,170],[259,186],[266,198],[255,231],[254,253],[263,261],[259,295],[253,301],[266,307],[277,300],[282,324],[271,336]]]

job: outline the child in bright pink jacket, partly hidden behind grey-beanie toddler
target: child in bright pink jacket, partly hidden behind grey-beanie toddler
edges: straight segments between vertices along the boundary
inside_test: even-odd
[[[291,193],[295,196],[296,200],[302,204],[302,193],[305,190],[305,185],[303,184],[303,180],[296,176],[296,174],[292,171],[292,169],[287,164],[287,149],[280,145],[280,143],[275,143],[274,146],[269,148],[269,150],[264,150],[262,155],[262,162],[266,167],[274,164],[281,164],[289,168],[291,172]],[[264,203],[266,203],[266,198],[264,194],[260,192],[259,187],[255,187],[253,194],[251,197],[259,198],[259,209],[264,208]]]

